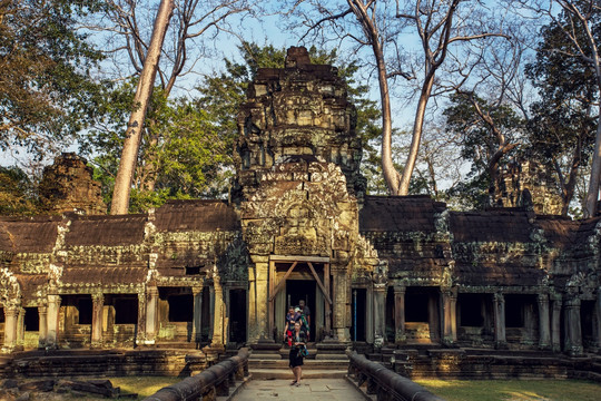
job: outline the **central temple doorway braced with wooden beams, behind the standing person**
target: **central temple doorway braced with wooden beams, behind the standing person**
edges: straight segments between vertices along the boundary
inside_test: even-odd
[[[269,261],[269,327],[276,342],[284,341],[288,306],[300,300],[311,311],[311,342],[318,342],[332,327],[329,258],[277,256]]]

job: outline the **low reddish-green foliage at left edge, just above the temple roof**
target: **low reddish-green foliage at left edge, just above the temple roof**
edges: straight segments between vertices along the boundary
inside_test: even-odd
[[[19,167],[0,167],[0,215],[23,216],[39,212],[33,185]]]

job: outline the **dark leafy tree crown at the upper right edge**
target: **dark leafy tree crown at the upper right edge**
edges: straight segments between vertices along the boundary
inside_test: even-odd
[[[589,22],[600,43],[601,13],[599,10],[592,11]],[[566,25],[573,22],[581,50],[590,53],[580,22],[570,21],[565,12],[559,16],[558,21]],[[535,62],[526,66],[526,76],[540,95],[530,108],[528,153],[553,170],[558,187],[562,188],[564,205],[571,204],[572,196],[580,198],[580,204],[583,202],[584,192],[579,194],[573,180],[585,174],[591,162],[599,124],[600,88],[592,66],[578,55],[579,49],[566,37],[564,28],[552,22],[541,30]],[[572,216],[580,214],[573,204],[570,209]]]

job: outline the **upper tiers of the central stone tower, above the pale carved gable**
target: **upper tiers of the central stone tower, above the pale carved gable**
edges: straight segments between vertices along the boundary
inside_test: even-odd
[[[256,189],[262,173],[293,158],[333,163],[349,193],[365,193],[356,110],[337,68],[313,65],[307,49],[293,47],[285,68],[257,71],[247,96],[238,114],[235,200]]]

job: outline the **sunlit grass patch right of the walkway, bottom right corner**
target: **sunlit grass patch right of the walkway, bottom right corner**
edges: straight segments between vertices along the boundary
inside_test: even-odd
[[[581,380],[435,380],[416,383],[447,401],[597,401],[601,384]]]

